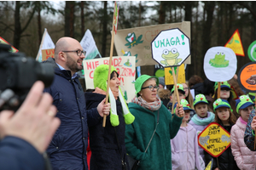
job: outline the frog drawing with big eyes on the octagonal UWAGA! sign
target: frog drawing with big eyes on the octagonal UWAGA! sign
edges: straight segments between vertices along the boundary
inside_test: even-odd
[[[165,49],[162,54],[162,58],[165,60],[161,60],[160,63],[166,66],[177,65],[183,59],[177,59],[179,53],[177,52],[176,48],[172,48],[171,51]]]

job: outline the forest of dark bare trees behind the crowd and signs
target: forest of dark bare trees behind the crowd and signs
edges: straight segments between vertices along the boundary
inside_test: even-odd
[[[109,57],[114,1],[1,1],[0,37],[26,56],[36,58],[44,28],[53,42],[74,37],[79,42],[89,29],[102,57]],[[256,40],[255,1],[120,1],[118,30],[190,21],[192,75],[205,78],[207,49],[224,46],[238,29],[245,57],[237,56],[237,71],[248,62],[247,48]],[[117,56],[113,49],[113,56]],[[157,63],[156,63],[157,64]],[[142,66],[153,75],[154,65]]]

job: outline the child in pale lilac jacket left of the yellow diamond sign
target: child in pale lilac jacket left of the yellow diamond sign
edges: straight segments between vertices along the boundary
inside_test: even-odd
[[[189,107],[186,99],[181,99],[185,112],[183,122],[174,139],[171,139],[172,145],[172,169],[175,170],[204,170],[205,162],[201,158],[198,150],[197,133],[195,128],[188,124],[190,111],[194,111]],[[174,105],[174,112],[176,111]]]

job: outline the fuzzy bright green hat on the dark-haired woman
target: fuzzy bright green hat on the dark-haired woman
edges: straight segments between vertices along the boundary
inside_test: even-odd
[[[93,76],[94,88],[101,88],[102,90],[107,92],[108,67],[109,65],[99,65],[96,67]],[[113,71],[116,71],[118,73],[113,65],[111,65],[111,73]]]

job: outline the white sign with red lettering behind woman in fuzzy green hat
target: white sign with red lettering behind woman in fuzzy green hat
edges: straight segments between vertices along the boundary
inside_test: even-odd
[[[93,73],[98,65],[108,65],[109,57],[100,59],[85,59],[84,65],[84,81],[86,88],[94,89]],[[119,73],[120,88],[127,102],[135,97],[134,83],[136,76],[135,56],[119,56],[113,57],[112,65]],[[106,80],[107,82],[107,80]]]

